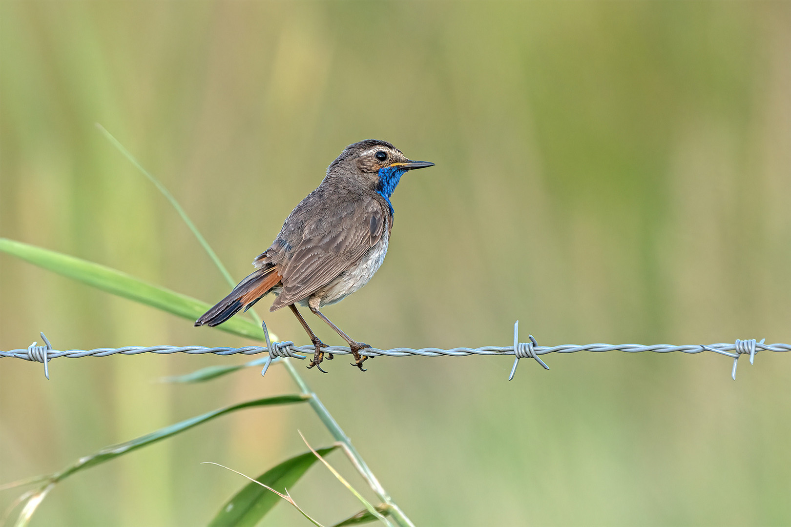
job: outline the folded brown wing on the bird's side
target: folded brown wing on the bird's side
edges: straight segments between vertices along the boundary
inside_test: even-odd
[[[305,225],[301,243],[281,271],[283,289],[272,311],[308,298],[379,242],[388,213],[379,201],[366,201],[336,204]]]

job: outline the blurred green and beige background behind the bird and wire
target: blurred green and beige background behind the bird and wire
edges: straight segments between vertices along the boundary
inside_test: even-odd
[[[435,168],[387,262],[327,315],[380,348],[791,341],[789,2],[0,3],[2,236],[207,302],[228,290],[100,122],[236,278],[345,145]],[[246,341],[0,256],[0,348]],[[307,341],[288,310],[282,339]],[[308,319],[310,320],[310,319]],[[320,336],[340,344],[317,320]],[[791,357],[377,359],[301,371],[418,525],[789,525]],[[244,358],[0,361],[0,482],[296,388]],[[238,412],[82,472],[33,525],[201,525],[331,442],[307,406]],[[330,461],[365,484],[342,454]],[[5,491],[0,506],[17,497]],[[361,508],[323,467],[292,495]],[[371,499],[374,499],[368,493]],[[278,505],[267,525],[304,525]]]

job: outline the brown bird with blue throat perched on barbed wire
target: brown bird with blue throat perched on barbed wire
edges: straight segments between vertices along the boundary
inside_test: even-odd
[[[320,310],[340,302],[371,280],[388,252],[394,210],[391,196],[408,171],[433,167],[407,159],[388,141],[366,139],[346,146],[327,167],[320,185],[294,207],[271,246],[252,262],[255,270],[233,288],[195,326],[218,326],[247,311],[269,293],[270,311],[289,307],[308,333],[316,352],[308,368],[332,359],[326,344],[305,322],[297,304],[326,322],[349,344],[353,366],[365,371],[370,348],[354,341]]]

